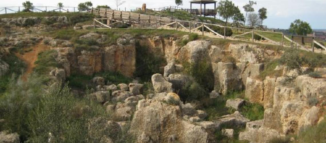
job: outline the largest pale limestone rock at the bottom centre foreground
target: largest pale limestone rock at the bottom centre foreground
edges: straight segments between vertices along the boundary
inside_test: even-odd
[[[172,106],[150,99],[147,106],[138,108],[131,122],[130,132],[153,142],[206,143],[207,132],[197,125],[182,121],[180,106]],[[139,102],[144,102],[140,100]],[[148,141],[148,139],[147,139]]]

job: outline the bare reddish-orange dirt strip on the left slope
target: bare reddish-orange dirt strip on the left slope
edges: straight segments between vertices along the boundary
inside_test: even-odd
[[[35,46],[32,46],[31,49],[33,49],[33,50],[29,51],[29,52],[26,52],[24,54],[15,53],[16,56],[18,58],[22,59],[27,65],[26,71],[22,75],[22,79],[24,81],[26,81],[27,78],[28,78],[28,75],[33,72],[33,69],[36,66],[35,61],[37,60],[38,53],[40,53],[42,51],[45,51],[45,50],[50,50],[50,47],[42,45],[42,44],[39,43],[39,44],[37,44]]]

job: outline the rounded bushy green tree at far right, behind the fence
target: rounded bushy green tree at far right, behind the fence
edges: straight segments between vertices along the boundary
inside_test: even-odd
[[[301,21],[300,19],[291,23],[289,31],[302,36],[312,33],[310,24],[306,21]]]

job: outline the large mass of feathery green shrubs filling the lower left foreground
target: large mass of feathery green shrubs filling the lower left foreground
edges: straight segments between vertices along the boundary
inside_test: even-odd
[[[114,133],[103,129],[111,120],[103,105],[75,98],[67,84],[48,87],[43,83],[37,75],[27,82],[11,80],[10,88],[0,96],[0,117],[5,119],[1,130],[18,133],[22,142],[48,142],[49,133],[52,142],[100,142],[103,136],[119,136],[117,142],[132,140],[128,129]],[[97,119],[104,122],[94,122]]]

